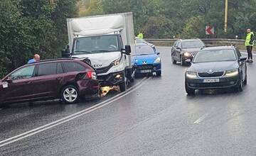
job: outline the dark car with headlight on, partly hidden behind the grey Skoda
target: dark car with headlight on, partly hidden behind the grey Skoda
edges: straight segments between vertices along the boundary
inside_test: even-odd
[[[205,48],[206,45],[202,40],[193,38],[187,40],[176,40],[173,47],[171,48],[171,62],[181,62],[181,65],[187,65],[196,55],[196,52]]]

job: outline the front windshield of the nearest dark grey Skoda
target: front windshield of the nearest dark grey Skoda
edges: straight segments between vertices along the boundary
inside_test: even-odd
[[[194,58],[194,63],[234,61],[236,55],[234,50],[203,50],[199,51]]]

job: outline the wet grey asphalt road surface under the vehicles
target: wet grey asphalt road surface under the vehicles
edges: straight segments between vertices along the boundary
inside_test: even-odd
[[[0,155],[256,155],[255,64],[248,65],[248,85],[240,93],[186,96],[186,67],[171,65],[170,49],[158,48],[162,77],[139,78],[125,94],[2,108]],[[69,121],[1,142],[86,108]]]

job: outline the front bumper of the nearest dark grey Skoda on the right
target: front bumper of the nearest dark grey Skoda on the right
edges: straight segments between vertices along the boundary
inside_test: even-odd
[[[201,79],[186,78],[186,85],[190,89],[225,89],[235,87],[239,82],[239,77],[221,77],[221,78],[204,78],[219,79],[219,82],[203,82]]]

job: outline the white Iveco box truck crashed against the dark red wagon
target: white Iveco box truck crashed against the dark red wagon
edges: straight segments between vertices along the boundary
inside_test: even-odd
[[[102,87],[119,86],[125,91],[134,81],[132,13],[68,18],[67,23],[68,55],[90,62]]]

